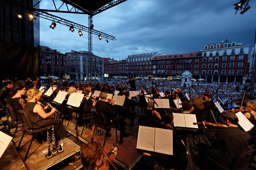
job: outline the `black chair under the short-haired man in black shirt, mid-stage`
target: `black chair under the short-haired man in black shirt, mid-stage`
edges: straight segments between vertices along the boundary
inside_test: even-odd
[[[95,130],[97,127],[102,128],[106,131],[111,127],[116,127],[116,140],[117,140],[117,125],[116,124],[115,125],[107,125],[106,118],[102,113],[94,112],[93,115],[94,115],[94,120],[95,120],[95,127],[94,127],[93,134],[95,133]],[[120,133],[121,133],[121,131],[120,131]],[[105,134],[103,147],[105,146],[106,138],[107,138],[107,136]],[[93,141],[93,138],[92,138],[92,141]]]

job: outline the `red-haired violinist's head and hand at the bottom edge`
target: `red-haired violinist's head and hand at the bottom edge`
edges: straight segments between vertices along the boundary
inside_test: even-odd
[[[83,170],[97,170],[102,165],[103,161],[103,146],[99,142],[91,142],[84,146],[81,150],[81,161]],[[117,154],[115,147],[112,153]]]

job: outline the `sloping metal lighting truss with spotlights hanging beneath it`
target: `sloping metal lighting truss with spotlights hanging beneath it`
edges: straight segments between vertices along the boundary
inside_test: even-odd
[[[48,20],[50,20],[52,22],[56,22],[56,23],[65,25],[67,27],[73,26],[74,28],[82,30],[82,31],[86,31],[86,32],[90,32],[91,31],[92,34],[94,34],[94,35],[99,35],[100,34],[102,37],[105,37],[105,38],[110,39],[110,40],[116,40],[116,37],[114,37],[112,35],[103,33],[101,31],[98,31],[98,30],[95,30],[95,29],[90,29],[89,27],[86,27],[84,25],[80,25],[80,24],[77,24],[75,22],[72,22],[72,21],[60,18],[58,16],[55,16],[53,14],[49,14],[47,12],[40,11],[39,9],[35,9],[34,8],[33,12],[34,12],[34,15],[37,16],[37,17],[48,19]]]

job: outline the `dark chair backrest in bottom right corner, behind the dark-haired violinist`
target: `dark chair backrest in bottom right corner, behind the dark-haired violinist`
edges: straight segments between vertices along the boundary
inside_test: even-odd
[[[256,150],[250,149],[248,151],[242,152],[236,159],[234,159],[234,166],[232,169],[243,169],[248,167],[255,156]],[[232,164],[232,163],[231,163]]]

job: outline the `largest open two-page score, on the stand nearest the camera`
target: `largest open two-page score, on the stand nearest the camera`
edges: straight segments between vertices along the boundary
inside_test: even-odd
[[[173,131],[139,126],[137,149],[173,155]]]

